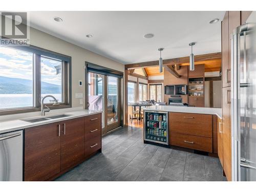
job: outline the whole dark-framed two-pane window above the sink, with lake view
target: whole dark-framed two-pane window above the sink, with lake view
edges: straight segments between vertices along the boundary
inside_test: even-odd
[[[71,106],[71,58],[34,46],[0,46],[0,114],[40,110],[40,101],[53,95],[60,105]]]

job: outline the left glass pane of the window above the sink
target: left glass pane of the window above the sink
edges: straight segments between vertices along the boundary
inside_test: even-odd
[[[33,53],[0,46],[0,109],[33,106]]]

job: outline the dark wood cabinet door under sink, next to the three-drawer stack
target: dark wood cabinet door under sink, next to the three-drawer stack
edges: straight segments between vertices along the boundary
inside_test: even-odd
[[[61,122],[61,170],[73,167],[84,157],[84,118]]]

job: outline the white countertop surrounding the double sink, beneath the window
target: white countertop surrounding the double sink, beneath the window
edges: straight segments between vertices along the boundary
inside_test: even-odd
[[[43,118],[43,117],[47,118],[47,117],[53,116],[53,115],[62,115],[62,114],[70,115],[67,117],[62,117],[62,118],[57,118],[57,119],[49,119],[49,120],[39,121],[39,122],[34,122],[34,123],[26,122],[26,121],[23,121],[20,119],[0,121],[0,134],[6,133],[6,132],[11,132],[11,131],[23,130],[23,129],[33,127],[33,126],[38,126],[38,125],[43,125],[43,124],[48,124],[48,123],[53,123],[53,122],[93,115],[93,114],[97,114],[97,113],[101,113],[101,111],[78,110],[78,111],[68,111],[66,113],[62,112],[59,114],[51,114],[51,115],[46,115],[46,116],[34,116],[32,118],[24,118],[24,119],[36,119],[36,118]]]

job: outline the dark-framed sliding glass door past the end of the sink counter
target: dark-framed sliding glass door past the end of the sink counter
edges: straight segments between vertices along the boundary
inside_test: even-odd
[[[102,135],[120,126],[120,78],[87,73],[86,102],[89,110],[102,111]]]

